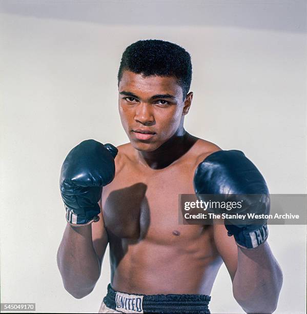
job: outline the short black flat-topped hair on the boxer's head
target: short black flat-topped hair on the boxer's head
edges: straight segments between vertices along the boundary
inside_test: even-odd
[[[121,56],[117,85],[125,71],[144,76],[174,76],[185,100],[192,81],[191,56],[182,47],[162,40],[137,41]]]

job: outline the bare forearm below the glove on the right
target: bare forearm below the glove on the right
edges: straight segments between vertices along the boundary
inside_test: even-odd
[[[238,247],[234,297],[248,313],[272,313],[282,285],[282,272],[269,244],[253,250]]]

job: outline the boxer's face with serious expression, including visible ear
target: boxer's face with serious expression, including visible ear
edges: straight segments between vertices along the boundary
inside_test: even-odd
[[[118,87],[118,109],[132,146],[154,151],[168,141],[183,128],[183,116],[189,111],[192,97],[189,93],[182,100],[182,88],[174,77],[144,77],[124,71]]]

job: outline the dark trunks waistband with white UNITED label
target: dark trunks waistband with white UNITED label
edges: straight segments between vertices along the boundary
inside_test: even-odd
[[[210,313],[206,295],[132,295],[108,285],[104,298],[107,307],[120,313]]]

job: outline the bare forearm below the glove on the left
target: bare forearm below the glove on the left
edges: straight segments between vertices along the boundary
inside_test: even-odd
[[[87,296],[100,276],[100,264],[92,242],[91,225],[67,224],[57,252],[57,265],[65,289],[75,298]]]

